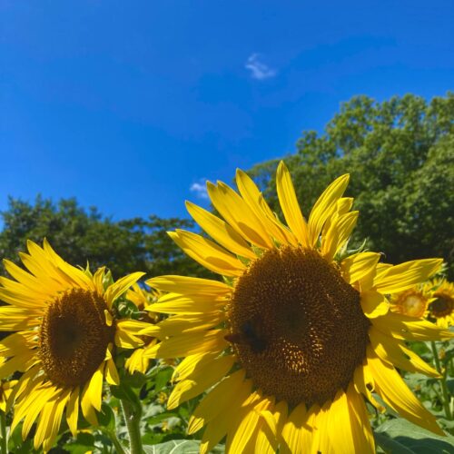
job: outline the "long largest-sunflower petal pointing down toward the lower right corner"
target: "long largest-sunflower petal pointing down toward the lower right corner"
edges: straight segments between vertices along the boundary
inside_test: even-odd
[[[419,400],[409,390],[398,372],[386,364],[368,347],[368,365],[375,380],[376,390],[392,410],[397,411],[403,418],[414,424],[428,429],[438,435],[444,435],[439,429],[435,417],[426,410]]]

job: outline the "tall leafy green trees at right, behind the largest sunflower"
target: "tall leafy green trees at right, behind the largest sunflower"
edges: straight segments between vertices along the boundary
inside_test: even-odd
[[[443,257],[454,277],[454,94],[429,103],[411,94],[383,103],[356,96],[324,133],[303,133],[285,162],[304,212],[334,178],[350,173],[347,195],[360,210],[353,242],[368,238],[391,263]],[[277,163],[251,174],[279,212]]]

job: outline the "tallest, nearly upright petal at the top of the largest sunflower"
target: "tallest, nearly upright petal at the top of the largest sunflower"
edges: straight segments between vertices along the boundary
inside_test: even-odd
[[[309,245],[308,225],[302,216],[300,203],[296,198],[293,183],[291,183],[290,172],[283,161],[279,163],[276,173],[276,188],[285,221],[301,245],[307,247]]]

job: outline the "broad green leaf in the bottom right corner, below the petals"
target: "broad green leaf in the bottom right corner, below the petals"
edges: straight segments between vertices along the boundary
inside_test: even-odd
[[[390,419],[375,430],[375,440],[386,453],[454,454],[454,437],[440,437],[406,419]]]

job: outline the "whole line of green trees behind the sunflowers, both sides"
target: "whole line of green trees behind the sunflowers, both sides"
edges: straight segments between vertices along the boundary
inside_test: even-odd
[[[391,263],[443,257],[454,278],[454,94],[423,98],[408,94],[383,103],[356,96],[341,105],[323,133],[302,133],[296,152],[285,158],[301,206],[308,213],[322,190],[350,173],[347,195],[355,197],[360,220],[352,245],[368,239],[370,249]],[[251,174],[280,215],[275,191],[278,159]],[[27,239],[46,237],[66,261],[92,268],[106,265],[115,277],[131,271],[149,276],[206,276],[166,234],[192,229],[185,219],[134,218],[114,222],[75,199],[54,203],[10,198],[1,213],[0,256],[17,260]]]

